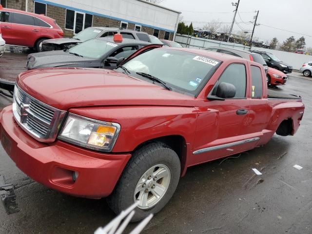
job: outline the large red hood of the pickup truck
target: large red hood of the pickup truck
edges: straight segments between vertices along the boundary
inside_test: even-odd
[[[196,98],[122,73],[91,68],[35,69],[21,73],[18,86],[60,110],[85,106],[195,106]]]

